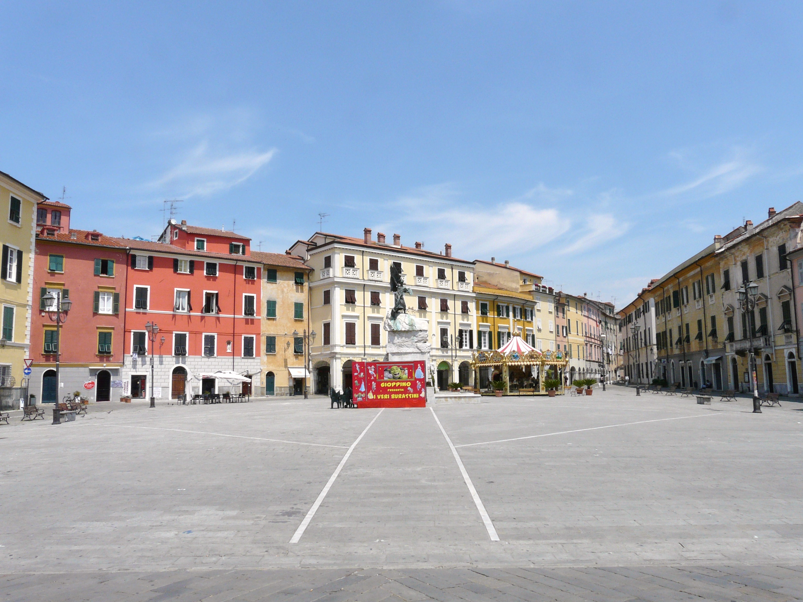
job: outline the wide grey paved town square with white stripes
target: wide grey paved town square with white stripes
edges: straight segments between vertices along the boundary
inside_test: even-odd
[[[420,409],[286,397],[99,403],[58,426],[12,414],[0,594],[797,599],[803,405],[717,399],[614,385]]]

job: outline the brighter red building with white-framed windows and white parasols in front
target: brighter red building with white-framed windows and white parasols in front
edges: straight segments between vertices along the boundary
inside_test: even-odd
[[[219,371],[258,386],[262,266],[251,261],[251,239],[171,220],[158,242],[118,240],[129,253],[124,391],[150,397],[152,354],[157,399],[239,390]],[[159,327],[153,344],[147,323]]]

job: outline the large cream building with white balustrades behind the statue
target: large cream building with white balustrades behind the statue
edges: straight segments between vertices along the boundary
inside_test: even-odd
[[[393,308],[393,262],[401,264],[412,291],[405,297],[407,313],[429,322],[435,380],[440,386],[459,380],[459,367],[471,362],[470,338],[476,327],[474,265],[452,257],[451,245],[439,252],[425,250],[420,242],[402,246],[397,234],[393,242],[386,242],[381,233],[373,240],[366,228],[363,238],[316,232],[296,242],[290,252],[312,268],[316,392],[350,385],[353,361],[385,359],[387,332],[382,321]]]

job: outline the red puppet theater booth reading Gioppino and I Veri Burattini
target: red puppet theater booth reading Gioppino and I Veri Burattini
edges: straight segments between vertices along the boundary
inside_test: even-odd
[[[426,362],[353,362],[352,397],[358,408],[426,406]]]

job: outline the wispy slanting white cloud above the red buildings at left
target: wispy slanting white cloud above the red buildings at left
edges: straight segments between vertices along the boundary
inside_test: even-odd
[[[178,165],[169,169],[150,188],[165,189],[181,197],[206,196],[230,189],[253,176],[278,151],[211,153],[205,140]]]

